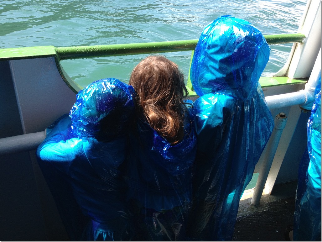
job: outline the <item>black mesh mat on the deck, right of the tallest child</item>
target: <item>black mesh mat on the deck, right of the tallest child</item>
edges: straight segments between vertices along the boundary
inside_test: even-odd
[[[232,240],[285,240],[285,228],[293,224],[295,197],[267,203],[267,210],[239,217]]]

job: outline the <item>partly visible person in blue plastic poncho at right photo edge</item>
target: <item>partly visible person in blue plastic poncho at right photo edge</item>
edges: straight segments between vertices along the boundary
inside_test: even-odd
[[[321,77],[307,130],[308,151],[298,170],[293,240],[321,240]]]

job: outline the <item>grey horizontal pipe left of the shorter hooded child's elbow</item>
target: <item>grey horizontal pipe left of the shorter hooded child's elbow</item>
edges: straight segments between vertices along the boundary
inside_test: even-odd
[[[22,134],[0,139],[0,155],[35,150],[45,139],[46,132]]]

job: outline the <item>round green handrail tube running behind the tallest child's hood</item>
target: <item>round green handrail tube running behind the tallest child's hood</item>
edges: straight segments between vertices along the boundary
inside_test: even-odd
[[[272,34],[264,35],[268,44],[302,43],[304,34]],[[165,53],[191,51],[198,40],[164,41],[137,44],[110,44],[92,46],[56,47],[59,60],[90,57],[119,56],[131,54]]]

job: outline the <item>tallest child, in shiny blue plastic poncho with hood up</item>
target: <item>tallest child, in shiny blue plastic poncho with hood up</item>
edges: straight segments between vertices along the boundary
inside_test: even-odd
[[[197,132],[188,238],[231,240],[239,200],[274,121],[259,78],[270,48],[258,29],[221,16],[200,36],[190,79]]]

